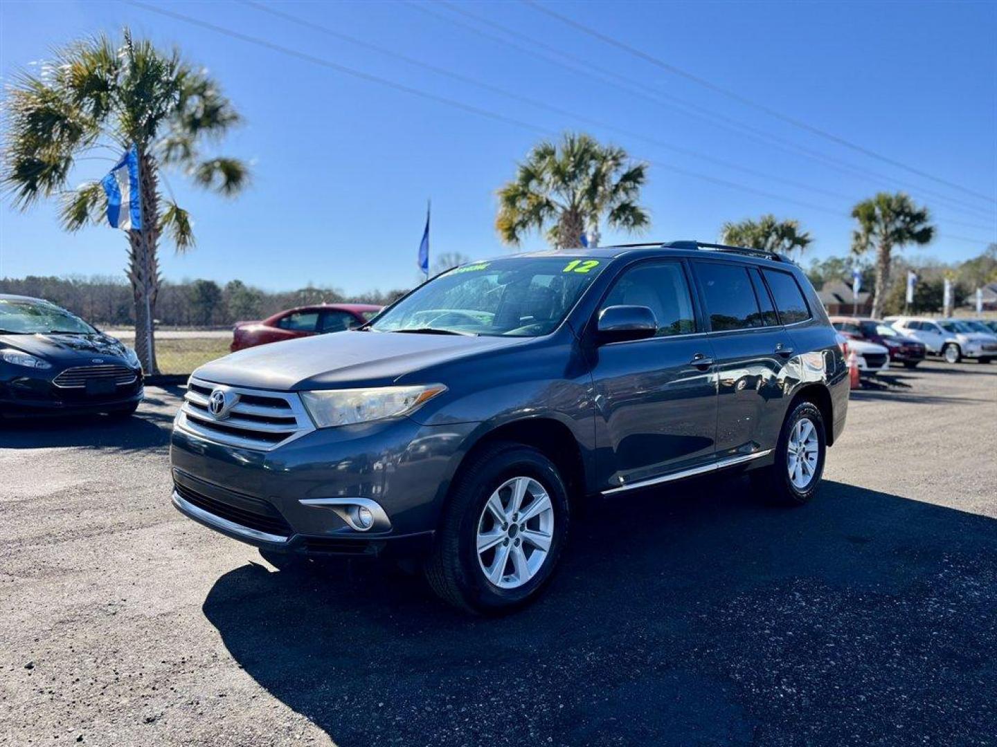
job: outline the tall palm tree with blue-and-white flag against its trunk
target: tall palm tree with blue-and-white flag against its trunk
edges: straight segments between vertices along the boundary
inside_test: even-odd
[[[158,373],[153,320],[160,234],[166,231],[180,252],[194,245],[187,211],[161,192],[161,168],[179,168],[199,186],[236,194],[248,182],[245,164],[204,158],[200,147],[240,118],[205,71],[183,62],[175,50],[134,41],[128,29],[120,46],[101,36],[55,54],[40,75],[22,73],[8,90],[0,184],[22,210],[42,197],[59,197],[63,227],[77,231],[102,222],[107,209],[100,180],[68,189],[77,162],[102,160],[92,155],[95,150],[117,155],[136,147],[143,221],[141,230],[127,234],[128,275],[136,350],[146,373]]]

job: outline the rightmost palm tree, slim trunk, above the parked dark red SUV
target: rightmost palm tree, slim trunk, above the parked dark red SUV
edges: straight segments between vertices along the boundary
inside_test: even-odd
[[[862,200],[851,208],[851,217],[858,221],[851,234],[851,251],[865,254],[875,247],[872,316],[878,317],[886,300],[893,248],[927,244],[934,237],[934,226],[928,223],[927,208],[917,207],[903,192],[879,192]]]

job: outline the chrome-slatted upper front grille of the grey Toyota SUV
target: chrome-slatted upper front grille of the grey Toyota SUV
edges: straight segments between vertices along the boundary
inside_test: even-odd
[[[220,389],[227,410],[211,413],[211,393]],[[292,391],[269,391],[214,384],[191,378],[180,406],[177,427],[227,446],[269,451],[315,429],[300,397]]]

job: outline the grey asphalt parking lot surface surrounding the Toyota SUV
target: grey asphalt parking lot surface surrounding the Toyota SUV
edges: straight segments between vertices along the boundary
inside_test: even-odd
[[[853,395],[819,500],[593,504],[498,620],[380,566],[279,572],[169,505],[178,388],[0,426],[0,742],[997,743],[997,365]]]

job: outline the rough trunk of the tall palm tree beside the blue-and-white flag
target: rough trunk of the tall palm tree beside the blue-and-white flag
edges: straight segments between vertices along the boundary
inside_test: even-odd
[[[160,238],[156,161],[139,150],[139,186],[142,230],[129,231],[129,280],[135,297],[135,352],[143,370],[160,373],[156,361],[156,300],[160,292],[160,267],[156,256]]]

